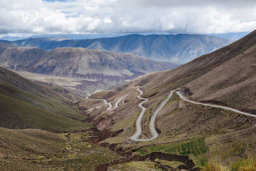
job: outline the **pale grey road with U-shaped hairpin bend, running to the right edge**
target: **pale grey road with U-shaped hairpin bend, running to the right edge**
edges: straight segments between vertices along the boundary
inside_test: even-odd
[[[207,104],[207,103],[200,103],[200,102],[196,102],[196,101],[191,101],[191,100],[188,100],[188,98],[186,98],[185,96],[183,96],[179,90],[173,90],[170,92],[170,94],[168,95],[168,97],[166,98],[166,100],[164,100],[161,105],[159,105],[159,107],[157,108],[157,110],[154,112],[154,114],[152,115],[151,119],[150,119],[150,124],[149,124],[149,127],[150,127],[150,132],[152,133],[153,137],[151,138],[147,138],[147,139],[140,139],[140,135],[141,135],[141,132],[142,132],[142,128],[141,128],[141,123],[142,123],[142,119],[143,119],[143,115],[146,111],[146,108],[143,107],[143,103],[145,103],[146,101],[148,101],[147,98],[141,98],[141,95],[143,94],[143,92],[141,91],[140,88],[137,89],[137,91],[140,92],[140,94],[137,96],[137,98],[141,99],[141,100],[144,100],[142,101],[141,103],[138,104],[138,106],[142,109],[141,112],[140,112],[140,115],[136,121],[136,133],[134,133],[134,135],[132,135],[130,138],[131,140],[134,140],[134,141],[140,141],[140,142],[143,142],[143,141],[149,141],[149,140],[153,140],[154,138],[157,138],[159,136],[159,134],[157,133],[156,131],[156,128],[155,128],[155,121],[156,121],[156,117],[157,117],[157,114],[160,112],[160,110],[164,107],[164,105],[167,103],[167,101],[172,97],[172,94],[176,91],[176,93],[179,95],[180,99],[181,100],[184,100],[184,101],[188,101],[189,103],[194,103],[194,104],[197,104],[197,105],[205,105],[205,106],[208,106],[208,107],[216,107],[216,108],[222,108],[224,110],[231,110],[232,112],[236,112],[238,114],[242,114],[242,115],[246,115],[246,116],[249,116],[249,117],[256,117],[256,115],[253,115],[253,114],[249,114],[247,112],[242,112],[240,110],[237,110],[237,109],[234,109],[234,108],[230,108],[230,107],[223,107],[223,106],[220,106],[220,105],[210,105],[210,104]],[[255,125],[256,126],[256,125]]]

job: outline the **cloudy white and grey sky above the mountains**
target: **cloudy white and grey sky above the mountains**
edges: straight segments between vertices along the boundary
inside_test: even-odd
[[[218,34],[254,29],[255,0],[0,1],[0,36]]]

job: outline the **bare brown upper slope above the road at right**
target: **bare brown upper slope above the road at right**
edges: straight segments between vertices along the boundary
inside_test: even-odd
[[[179,87],[188,87],[193,94],[191,98],[196,100],[217,100],[227,102],[227,105],[231,106],[235,104],[244,106],[247,100],[253,101],[249,96],[255,93],[253,88],[255,42],[256,31],[253,31],[227,47],[198,57],[175,70],[164,72],[164,75],[171,75],[171,77],[164,79],[163,82],[179,83]],[[252,86],[252,88],[246,86]],[[172,86],[172,88],[176,87]],[[250,93],[245,92],[249,90]],[[218,99],[220,96],[222,100]],[[240,99],[243,96],[244,99]],[[249,104],[244,107],[249,107]]]

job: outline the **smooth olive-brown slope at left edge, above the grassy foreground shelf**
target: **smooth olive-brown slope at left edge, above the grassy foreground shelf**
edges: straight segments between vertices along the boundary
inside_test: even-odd
[[[0,68],[0,126],[61,132],[88,128],[77,107],[60,94]]]

